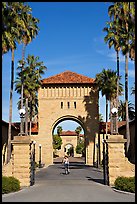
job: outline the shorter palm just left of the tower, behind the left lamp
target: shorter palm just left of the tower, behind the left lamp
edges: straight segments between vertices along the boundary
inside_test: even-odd
[[[22,71],[22,60],[19,60],[19,66],[17,67],[17,79],[15,81],[15,90],[17,93],[21,94],[22,90],[22,75],[24,75],[24,96],[28,98],[29,106],[29,118],[30,118],[30,134],[31,134],[31,122],[33,117],[37,114],[38,99],[37,91],[41,86],[41,77],[46,70],[46,66],[43,62],[39,62],[39,57],[34,57],[33,55],[28,55],[26,61],[24,62],[24,70]],[[21,107],[21,101],[18,107]]]

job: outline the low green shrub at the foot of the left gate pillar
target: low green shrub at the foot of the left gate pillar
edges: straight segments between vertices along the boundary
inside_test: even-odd
[[[2,194],[20,190],[20,181],[13,176],[2,176]]]

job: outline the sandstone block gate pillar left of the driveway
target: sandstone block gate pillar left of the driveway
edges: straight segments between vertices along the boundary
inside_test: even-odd
[[[13,145],[13,176],[19,179],[20,186],[31,184],[31,139],[29,136],[15,136]]]

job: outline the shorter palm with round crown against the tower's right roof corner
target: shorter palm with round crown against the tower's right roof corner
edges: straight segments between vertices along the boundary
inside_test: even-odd
[[[106,98],[106,135],[108,122],[108,101],[112,101],[117,96],[117,74],[113,70],[103,69],[101,73],[96,74],[95,83],[102,96]],[[122,92],[122,84],[119,83],[119,93]]]

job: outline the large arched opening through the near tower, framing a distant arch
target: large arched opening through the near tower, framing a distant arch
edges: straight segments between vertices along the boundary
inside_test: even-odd
[[[52,136],[53,158],[68,155],[81,157],[85,161],[85,127],[78,118],[67,115],[57,119],[52,126]],[[60,146],[57,145],[58,142]]]

